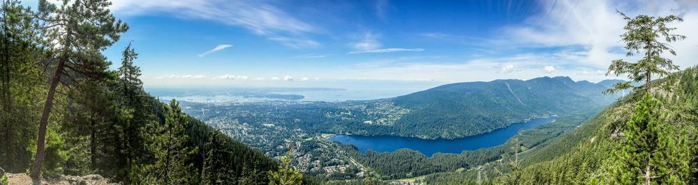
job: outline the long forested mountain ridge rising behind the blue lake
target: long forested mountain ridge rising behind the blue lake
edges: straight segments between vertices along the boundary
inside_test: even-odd
[[[604,83],[540,77],[452,83],[390,99],[407,108],[394,127],[408,136],[460,138],[559,113],[598,110],[617,99]]]

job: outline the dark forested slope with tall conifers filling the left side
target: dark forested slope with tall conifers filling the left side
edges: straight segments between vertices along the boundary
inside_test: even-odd
[[[98,174],[123,184],[267,184],[282,171],[300,182],[288,163],[145,92],[131,44],[110,70],[102,51],[128,26],[109,5],[39,1],[34,11],[2,2],[0,168],[36,180]]]

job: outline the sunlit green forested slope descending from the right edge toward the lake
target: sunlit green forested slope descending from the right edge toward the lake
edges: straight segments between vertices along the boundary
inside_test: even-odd
[[[655,80],[653,86],[652,94],[662,102],[662,110],[666,111],[664,116],[671,125],[667,131],[662,132],[662,137],[672,138],[676,142],[676,150],[672,150],[674,154],[662,158],[667,161],[667,165],[685,165],[662,168],[690,174],[692,177],[683,177],[681,181],[685,184],[695,184],[698,178],[698,171],[695,170],[698,168],[698,69],[690,67],[683,72]],[[610,179],[614,177],[609,174],[617,168],[616,152],[621,150],[621,143],[625,142],[625,122],[632,118],[633,109],[645,93],[644,88],[635,90],[549,145],[537,150],[522,149],[523,152],[518,156],[518,168],[507,166],[507,161],[513,161],[514,156],[502,159],[503,162],[483,165],[482,177],[493,177],[485,181],[495,184],[611,183]],[[683,169],[688,172],[682,171]],[[429,175],[424,182],[475,183],[476,179],[477,170],[473,169]]]

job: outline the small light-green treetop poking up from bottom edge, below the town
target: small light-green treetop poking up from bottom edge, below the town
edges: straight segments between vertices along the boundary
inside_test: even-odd
[[[270,185],[296,185],[302,183],[303,174],[291,167],[292,151],[290,150],[288,154],[281,156],[279,170],[268,172]]]

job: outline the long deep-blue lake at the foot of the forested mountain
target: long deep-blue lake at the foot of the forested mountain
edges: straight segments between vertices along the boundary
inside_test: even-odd
[[[554,120],[555,116],[537,118],[528,122],[514,123],[509,127],[496,129],[489,133],[456,139],[429,140],[401,136],[357,136],[338,134],[328,138],[328,140],[354,145],[361,152],[366,152],[366,150],[392,152],[401,148],[409,148],[422,152],[422,154],[426,156],[431,156],[438,152],[459,154],[463,152],[463,150],[477,150],[480,148],[502,145],[513,136],[516,136],[520,129],[531,129],[542,124],[554,122]]]

